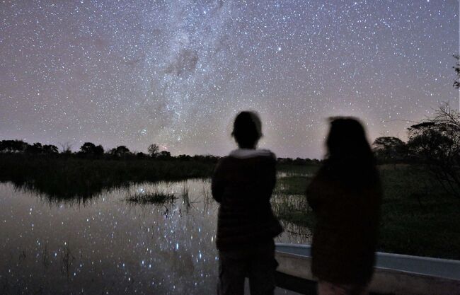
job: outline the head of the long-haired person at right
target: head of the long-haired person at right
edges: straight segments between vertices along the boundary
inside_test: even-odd
[[[372,149],[359,120],[353,117],[333,117],[326,141],[328,158],[367,161],[372,159]]]

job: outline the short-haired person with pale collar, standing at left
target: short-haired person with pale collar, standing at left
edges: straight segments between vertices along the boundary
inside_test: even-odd
[[[239,149],[217,164],[212,197],[220,203],[217,221],[219,295],[272,295],[275,289],[275,243],[282,226],[272,212],[270,197],[276,182],[275,155],[255,149],[262,136],[254,112],[240,112],[233,137]]]

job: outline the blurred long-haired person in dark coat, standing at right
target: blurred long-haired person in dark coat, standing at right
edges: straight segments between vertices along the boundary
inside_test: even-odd
[[[307,187],[317,223],[311,271],[318,294],[367,294],[374,270],[381,187],[361,123],[330,122],[326,161]]]

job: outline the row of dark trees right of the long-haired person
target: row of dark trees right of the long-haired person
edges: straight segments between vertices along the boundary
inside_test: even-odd
[[[444,103],[432,117],[410,126],[407,137],[407,142],[397,137],[375,139],[377,160],[421,164],[445,191],[460,197],[460,112]]]

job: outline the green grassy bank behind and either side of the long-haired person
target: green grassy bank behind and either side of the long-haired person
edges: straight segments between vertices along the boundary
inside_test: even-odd
[[[311,168],[305,168],[308,174]],[[416,166],[379,167],[384,187],[379,250],[460,260],[460,200],[446,195]],[[278,180],[274,208],[280,219],[314,226],[304,191],[310,177]]]

